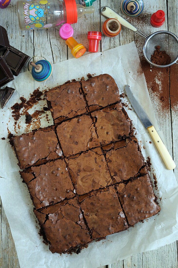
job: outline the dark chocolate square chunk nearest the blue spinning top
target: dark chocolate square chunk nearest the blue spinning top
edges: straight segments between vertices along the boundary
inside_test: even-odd
[[[10,46],[3,54],[3,58],[12,70],[13,75],[17,76],[30,57]]]

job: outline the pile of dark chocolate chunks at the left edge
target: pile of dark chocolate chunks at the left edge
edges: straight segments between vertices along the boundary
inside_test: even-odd
[[[21,51],[10,46],[7,31],[0,25],[0,50],[5,50],[0,56],[0,88],[19,75],[22,68],[30,58]],[[14,88],[6,87],[0,90],[0,103],[3,109],[14,93]]]

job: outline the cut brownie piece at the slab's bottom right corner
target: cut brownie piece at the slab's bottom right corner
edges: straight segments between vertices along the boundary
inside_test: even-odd
[[[117,186],[118,196],[123,204],[128,223],[134,225],[160,211],[149,175],[132,179]]]

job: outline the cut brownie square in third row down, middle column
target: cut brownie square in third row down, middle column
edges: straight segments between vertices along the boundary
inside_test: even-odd
[[[101,148],[89,150],[66,161],[78,195],[104,188],[112,183]]]

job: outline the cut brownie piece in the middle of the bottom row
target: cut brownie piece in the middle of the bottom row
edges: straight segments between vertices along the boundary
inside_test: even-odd
[[[128,227],[113,186],[86,197],[81,202],[81,209],[89,229],[94,232],[94,239],[123,231]]]

